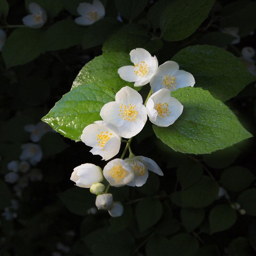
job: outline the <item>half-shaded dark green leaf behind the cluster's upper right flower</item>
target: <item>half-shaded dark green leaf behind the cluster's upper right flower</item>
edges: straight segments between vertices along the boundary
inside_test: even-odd
[[[240,59],[216,46],[188,46],[172,60],[179,64],[180,69],[195,77],[195,87],[208,90],[214,98],[223,102],[235,97],[256,79]]]

